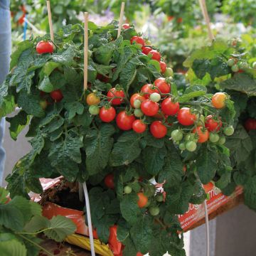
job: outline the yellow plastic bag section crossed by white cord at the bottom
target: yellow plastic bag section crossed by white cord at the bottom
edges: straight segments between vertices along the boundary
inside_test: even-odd
[[[65,238],[66,242],[69,242],[71,245],[77,245],[83,249],[90,250],[90,239],[83,236],[83,235],[68,235],[67,238]],[[105,245],[103,242],[100,242],[100,240],[95,239],[95,252],[102,256],[113,256],[112,251],[110,250],[110,247],[108,245]]]

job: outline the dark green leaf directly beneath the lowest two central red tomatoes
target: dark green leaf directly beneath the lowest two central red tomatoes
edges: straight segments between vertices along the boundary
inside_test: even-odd
[[[139,147],[139,134],[134,132],[124,132],[114,144],[114,148],[110,154],[110,166],[128,165],[137,159],[141,153]]]

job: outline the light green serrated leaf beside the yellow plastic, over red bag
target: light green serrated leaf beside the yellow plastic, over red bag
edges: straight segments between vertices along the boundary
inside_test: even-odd
[[[50,239],[56,242],[63,241],[68,235],[75,233],[76,225],[72,220],[62,215],[54,216],[50,220],[48,230],[43,233]]]

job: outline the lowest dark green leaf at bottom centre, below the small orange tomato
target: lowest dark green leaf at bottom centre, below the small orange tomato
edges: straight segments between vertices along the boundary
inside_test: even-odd
[[[144,215],[143,218],[137,220],[136,225],[133,225],[130,231],[135,247],[143,254],[148,252],[153,240],[152,224],[153,221],[149,215]]]

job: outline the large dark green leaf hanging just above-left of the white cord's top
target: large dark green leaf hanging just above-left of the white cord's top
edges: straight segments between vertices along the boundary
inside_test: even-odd
[[[81,163],[80,148],[82,136],[74,131],[68,132],[65,139],[56,141],[50,149],[51,166],[69,181],[74,181],[78,174],[78,164]]]

